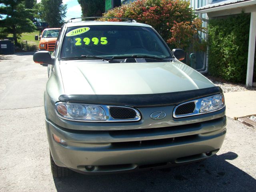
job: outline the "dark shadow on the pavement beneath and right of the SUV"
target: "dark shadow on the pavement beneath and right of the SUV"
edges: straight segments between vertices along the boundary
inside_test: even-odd
[[[96,176],[74,173],[72,177],[54,178],[54,183],[58,192],[254,191],[256,180],[226,161],[237,157],[228,152],[201,162],[146,172]]]

